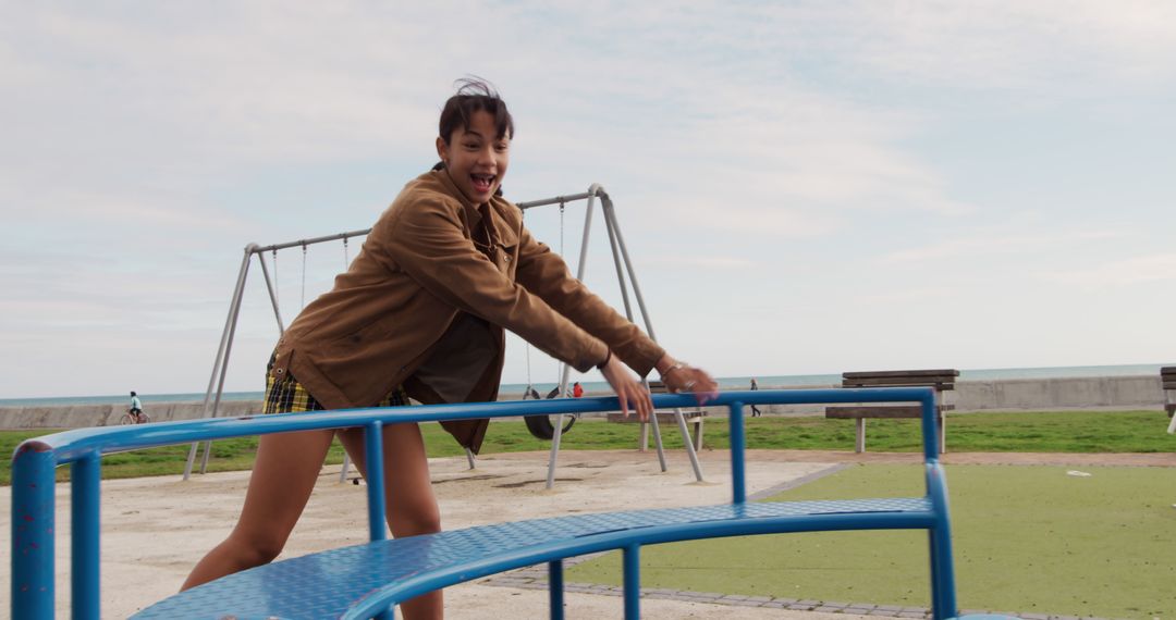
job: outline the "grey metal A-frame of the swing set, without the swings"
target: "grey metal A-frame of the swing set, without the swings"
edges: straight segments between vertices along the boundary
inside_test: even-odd
[[[583,236],[580,244],[580,257],[579,264],[576,267],[576,279],[582,281],[584,276],[584,268],[587,267],[587,254],[588,254],[588,242],[592,236],[592,223],[593,213],[595,211],[595,203],[600,201],[601,214],[604,220],[604,228],[608,232],[609,247],[613,252],[613,263],[616,268],[616,279],[621,289],[621,298],[624,303],[624,315],[630,322],[636,322],[633,312],[633,304],[629,301],[629,290],[626,285],[626,276],[628,276],[628,283],[633,287],[634,298],[636,299],[637,306],[641,311],[641,318],[646,326],[646,333],[656,342],[657,337],[654,332],[653,322],[649,317],[649,311],[646,306],[644,297],[641,295],[641,288],[637,284],[636,271],[633,268],[633,261],[629,257],[628,247],[624,244],[624,237],[621,234],[620,224],[616,218],[616,209],[613,204],[612,197],[604,190],[600,183],[593,183],[588,187],[587,191],[580,194],[570,194],[563,196],[555,196],[552,198],[543,198],[529,202],[516,202],[515,205],[519,207],[523,213],[527,209],[534,209],[537,207],[544,207],[549,204],[564,205],[570,202],[587,201],[587,208],[584,210],[584,227]],[[266,265],[265,252],[274,252],[275,256],[275,272],[276,272],[276,251],[287,248],[301,247],[303,249],[303,257],[306,255],[306,248],[309,245],[315,245],[319,243],[329,243],[334,241],[343,241],[345,252],[347,251],[347,240],[352,237],[366,236],[372,229],[367,228],[363,230],[353,230],[350,232],[340,232],[335,235],[326,235],[321,237],[303,238],[299,241],[287,242],[287,243],[275,243],[272,245],[258,245],[256,243],[249,243],[245,247],[245,256],[241,260],[241,267],[238,271],[236,284],[233,288],[233,296],[229,302],[228,317],[225,321],[225,330],[221,332],[220,345],[216,350],[216,357],[213,362],[212,376],[208,379],[208,389],[205,392],[203,399],[203,417],[215,418],[218,410],[220,407],[221,396],[225,389],[225,376],[228,370],[229,355],[233,350],[233,337],[236,332],[236,323],[240,317],[241,303],[245,292],[245,284],[249,274],[249,265],[253,263],[253,257],[258,257],[258,263],[261,265],[261,274],[266,281],[266,289],[269,294],[269,302],[274,310],[274,318],[278,322],[279,335],[285,333],[286,328],[282,323],[281,309],[278,304],[278,292],[274,281],[269,277],[269,268]],[[562,234],[562,232],[561,232]],[[303,278],[306,276],[303,268]],[[305,291],[303,291],[305,296]],[[562,364],[562,370],[560,372],[560,393],[567,390],[568,377],[570,375],[572,368],[567,364]],[[642,383],[646,389],[649,389],[649,382],[647,378],[642,378]],[[555,485],[555,467],[559,460],[560,453],[560,438],[563,430],[563,413],[560,413],[556,418],[556,423],[553,425],[553,437],[552,437],[552,452],[548,461],[547,469],[547,488],[552,488]],[[677,422],[679,431],[682,434],[682,443],[686,446],[686,452],[689,456],[690,465],[694,469],[695,479],[697,481],[703,480],[702,466],[699,463],[697,453],[694,450],[694,443],[690,440],[690,432],[687,429],[686,419],[682,415],[681,409],[674,409],[674,417]],[[666,464],[666,453],[662,446],[661,430],[657,424],[657,416],[650,416],[648,423],[641,423],[641,439],[640,445],[647,445],[649,425],[653,426],[654,444],[657,449],[657,460],[661,465],[661,471],[668,471]],[[195,461],[195,456],[198,452],[199,443],[193,443],[188,451],[188,459],[183,469],[183,479],[188,480],[192,476],[192,469]],[[212,451],[212,442],[205,442],[203,457],[200,463],[200,473],[205,473],[208,466],[208,456]],[[466,457],[469,460],[470,469],[474,469],[474,456],[467,450]],[[347,476],[347,461],[343,463],[343,471],[340,474],[341,480],[346,480]]]

